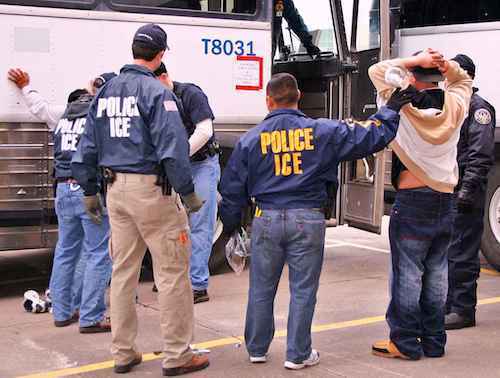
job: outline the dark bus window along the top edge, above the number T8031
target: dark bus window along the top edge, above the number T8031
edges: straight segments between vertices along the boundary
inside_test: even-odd
[[[112,4],[146,10],[168,8],[226,14],[254,14],[256,10],[256,0],[112,0]]]

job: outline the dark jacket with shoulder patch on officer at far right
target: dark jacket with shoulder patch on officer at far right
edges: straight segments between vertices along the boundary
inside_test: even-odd
[[[486,198],[488,172],[495,162],[495,108],[477,94],[474,88],[469,116],[460,129],[458,167],[460,180],[455,190],[463,186],[474,193],[475,206],[483,207]]]

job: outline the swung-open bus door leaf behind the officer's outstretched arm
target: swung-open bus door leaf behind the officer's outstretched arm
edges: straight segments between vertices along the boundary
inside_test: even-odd
[[[388,58],[388,44],[381,48],[381,24],[384,41],[389,35],[388,0],[341,0],[349,49],[347,55],[356,67],[347,73],[346,113],[365,120],[377,111],[375,87],[368,68],[381,56]],[[381,18],[381,5],[387,12]],[[384,9],[384,8],[382,8]],[[384,215],[384,151],[342,166],[340,223],[380,233]]]

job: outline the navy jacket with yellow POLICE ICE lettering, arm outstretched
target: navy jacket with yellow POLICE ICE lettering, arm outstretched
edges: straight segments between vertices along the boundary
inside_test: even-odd
[[[382,107],[368,121],[313,120],[298,110],[271,112],[243,135],[224,169],[221,218],[240,223],[250,198],[260,209],[322,208],[341,161],[382,150],[396,136],[399,113]]]

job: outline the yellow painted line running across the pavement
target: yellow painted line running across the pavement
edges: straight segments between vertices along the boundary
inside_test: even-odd
[[[485,299],[481,299],[478,301],[478,305],[480,305],[480,306],[481,305],[488,305],[488,304],[495,304],[495,303],[500,303],[500,297],[485,298]],[[345,328],[351,328],[351,327],[359,327],[359,326],[363,326],[363,325],[381,323],[384,320],[385,320],[385,316],[373,316],[373,317],[369,317],[369,318],[348,320],[345,322],[323,324],[323,325],[313,326],[312,332],[318,333],[318,332],[331,331],[334,329],[345,329]],[[284,336],[286,336],[286,330],[277,331],[274,336],[275,337],[284,337]],[[241,343],[242,340],[243,340],[243,336],[241,336],[241,337],[227,337],[224,339],[216,339],[216,340],[210,340],[210,341],[205,341],[202,343],[194,344],[193,347],[196,349],[218,348],[218,347],[222,347],[222,346],[226,346],[226,345],[239,344],[239,343]],[[162,353],[148,353],[148,354],[142,355],[142,360],[144,362],[158,360],[161,358],[163,358]],[[90,364],[90,365],[77,366],[74,368],[54,370],[54,371],[49,371],[49,372],[45,372],[45,373],[30,374],[30,375],[25,375],[25,376],[18,377],[18,378],[67,377],[69,375],[90,373],[90,372],[98,371],[98,370],[111,369],[111,368],[113,368],[113,366],[114,366],[114,361],[109,360],[109,361],[99,362],[99,363]]]

